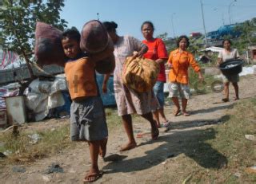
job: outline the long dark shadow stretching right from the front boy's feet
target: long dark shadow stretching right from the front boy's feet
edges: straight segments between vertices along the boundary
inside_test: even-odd
[[[187,125],[183,125],[183,127],[187,127]],[[215,150],[209,143],[206,143],[207,140],[214,139],[217,133],[218,132],[213,128],[207,128],[205,130],[174,131],[172,134],[160,136],[155,142],[163,144],[153,150],[146,151],[146,155],[109,162],[106,166],[103,166],[102,169],[106,170],[106,173],[127,173],[146,170],[152,166],[157,166],[170,157],[176,157],[181,154],[185,154],[190,159],[194,159],[198,165],[204,168],[220,169],[222,166],[227,165],[225,155]],[[155,142],[150,141],[142,143],[140,147]],[[135,148],[133,151],[136,151],[136,149],[139,148]]]

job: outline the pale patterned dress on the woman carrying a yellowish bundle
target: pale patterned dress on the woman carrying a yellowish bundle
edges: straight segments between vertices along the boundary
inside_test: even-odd
[[[116,67],[114,69],[114,95],[118,105],[118,115],[137,113],[138,115],[154,112],[158,108],[158,100],[153,90],[136,92],[122,84],[122,70],[126,57],[133,56],[134,51],[142,48],[142,42],[134,37],[119,37],[114,45]]]

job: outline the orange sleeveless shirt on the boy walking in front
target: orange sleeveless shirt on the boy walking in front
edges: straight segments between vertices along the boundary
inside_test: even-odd
[[[98,96],[94,67],[94,61],[89,57],[66,62],[64,71],[72,100],[78,97]]]

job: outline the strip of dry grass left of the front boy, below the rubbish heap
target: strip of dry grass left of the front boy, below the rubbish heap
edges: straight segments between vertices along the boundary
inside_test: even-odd
[[[38,134],[40,139],[37,143],[33,143],[33,139],[29,135]],[[20,131],[14,136],[12,132],[0,135],[1,143],[0,151],[10,151],[6,159],[0,159],[3,164],[11,162],[33,162],[35,159],[41,159],[51,154],[62,151],[65,147],[71,146],[70,142],[70,126],[65,125],[54,129],[53,131]]]

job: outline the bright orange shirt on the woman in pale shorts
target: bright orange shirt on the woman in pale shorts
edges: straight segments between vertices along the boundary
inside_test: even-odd
[[[188,84],[188,68],[191,65],[195,72],[200,71],[197,61],[194,60],[192,53],[188,51],[179,52],[178,49],[170,52],[168,59],[173,68],[169,72],[169,81]]]

